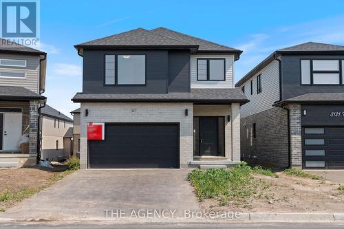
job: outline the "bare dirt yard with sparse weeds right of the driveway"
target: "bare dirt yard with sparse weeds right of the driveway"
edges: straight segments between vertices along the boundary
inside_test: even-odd
[[[202,208],[239,212],[344,212],[344,186],[338,183],[319,176],[308,177],[303,171],[301,175],[284,171],[263,175],[252,170],[250,175],[242,177],[241,169],[229,172],[228,177],[232,176],[229,179],[234,181],[228,183],[229,190],[214,189],[206,179],[199,179],[199,183],[191,180],[197,195],[203,195]],[[218,174],[214,174],[209,180],[217,180]],[[197,184],[210,188],[200,192]]]

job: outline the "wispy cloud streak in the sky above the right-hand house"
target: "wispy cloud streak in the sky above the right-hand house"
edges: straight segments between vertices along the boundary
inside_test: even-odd
[[[233,45],[244,51],[239,61],[236,62],[235,80],[239,80],[247,72],[250,72],[250,69],[275,50],[308,41],[343,45],[344,16],[328,17],[294,25],[281,25],[248,35],[246,42]]]

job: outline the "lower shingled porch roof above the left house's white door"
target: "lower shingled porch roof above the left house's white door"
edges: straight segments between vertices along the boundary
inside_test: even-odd
[[[36,94],[25,87],[0,86],[0,100],[29,100],[45,99],[44,96]]]

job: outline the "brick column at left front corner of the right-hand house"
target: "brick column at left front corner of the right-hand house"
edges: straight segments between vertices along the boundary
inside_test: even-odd
[[[292,168],[302,166],[302,145],[301,145],[301,105],[288,105],[290,118],[290,153]]]

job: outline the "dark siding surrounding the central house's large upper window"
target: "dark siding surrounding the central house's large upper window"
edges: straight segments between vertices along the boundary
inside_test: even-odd
[[[146,85],[105,86],[105,54],[145,54]],[[168,85],[166,50],[84,50],[84,94],[164,94]]]

